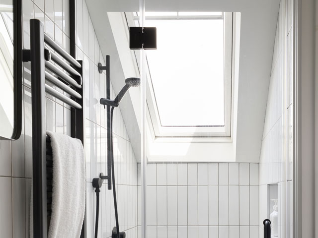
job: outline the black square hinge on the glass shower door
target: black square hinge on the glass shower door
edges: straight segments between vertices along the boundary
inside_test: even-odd
[[[129,48],[131,50],[156,50],[156,27],[129,27]]]

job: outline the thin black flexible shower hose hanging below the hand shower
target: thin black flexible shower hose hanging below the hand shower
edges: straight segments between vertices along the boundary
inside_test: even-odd
[[[120,238],[119,233],[119,223],[118,223],[118,210],[117,210],[117,197],[116,197],[116,183],[115,183],[115,170],[114,170],[114,153],[113,153],[113,112],[114,107],[111,108],[110,111],[110,141],[111,141],[111,175],[112,175],[112,181],[113,181],[113,196],[114,196],[114,210],[115,210],[115,220],[116,220],[116,232],[117,232],[117,238]],[[100,189],[96,188],[96,220],[95,220],[95,238],[97,238],[98,235],[98,217],[99,217],[99,192]]]

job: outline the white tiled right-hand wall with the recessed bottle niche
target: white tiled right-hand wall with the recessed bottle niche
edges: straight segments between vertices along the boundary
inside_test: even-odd
[[[292,237],[293,5],[281,0],[259,162],[259,226],[269,218],[268,184],[278,184],[279,237]],[[285,217],[286,214],[286,218]],[[287,228],[285,229],[284,226]]]

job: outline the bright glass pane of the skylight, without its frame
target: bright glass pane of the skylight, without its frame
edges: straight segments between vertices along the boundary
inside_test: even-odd
[[[156,20],[147,60],[161,126],[224,126],[223,19]]]

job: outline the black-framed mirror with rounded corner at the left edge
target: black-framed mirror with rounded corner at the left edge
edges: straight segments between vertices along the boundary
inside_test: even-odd
[[[21,1],[0,0],[0,137],[21,134]]]

